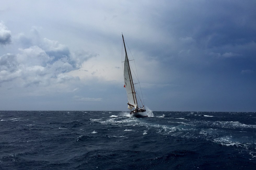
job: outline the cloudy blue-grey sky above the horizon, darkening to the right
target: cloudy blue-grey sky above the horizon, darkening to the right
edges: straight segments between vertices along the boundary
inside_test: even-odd
[[[0,110],[256,112],[256,1],[3,1]]]

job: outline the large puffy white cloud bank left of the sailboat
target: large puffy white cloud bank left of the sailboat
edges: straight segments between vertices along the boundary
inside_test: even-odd
[[[70,52],[58,41],[40,39],[39,33],[36,41],[26,37],[25,34],[22,34],[22,37],[33,46],[19,48],[18,54],[8,53],[0,56],[0,85],[3,82],[14,83],[15,79],[19,80],[15,86],[21,87],[46,87],[79,80],[78,77],[67,73],[79,69],[84,61],[97,56],[85,51]],[[23,41],[17,42],[23,43]]]

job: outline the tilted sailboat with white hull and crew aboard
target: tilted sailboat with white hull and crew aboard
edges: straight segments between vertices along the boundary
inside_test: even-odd
[[[123,42],[124,42],[124,36],[123,37]],[[131,69],[130,69],[130,64],[125,48],[125,43],[124,43],[124,49],[125,49],[125,60],[124,60],[124,87],[126,89],[126,94],[127,94],[127,99],[128,99],[128,109],[130,110],[130,115],[134,117],[148,117],[146,108],[144,104],[141,101],[141,106],[140,103],[137,102],[138,100],[138,95],[137,91],[134,87],[133,79],[132,79],[132,74],[131,74]],[[136,83],[137,84],[137,83]]]

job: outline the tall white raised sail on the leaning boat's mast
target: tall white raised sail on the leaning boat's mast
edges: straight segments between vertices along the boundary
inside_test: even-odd
[[[124,84],[126,89],[126,94],[128,98],[128,108],[131,110],[134,105],[137,105],[136,96],[135,96],[135,90],[132,83],[131,78],[131,70],[129,67],[129,61],[127,54],[125,55],[125,61],[124,61]]]

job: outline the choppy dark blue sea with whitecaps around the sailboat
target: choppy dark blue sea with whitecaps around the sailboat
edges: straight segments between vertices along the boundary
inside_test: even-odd
[[[0,169],[256,169],[256,112],[0,111]]]

